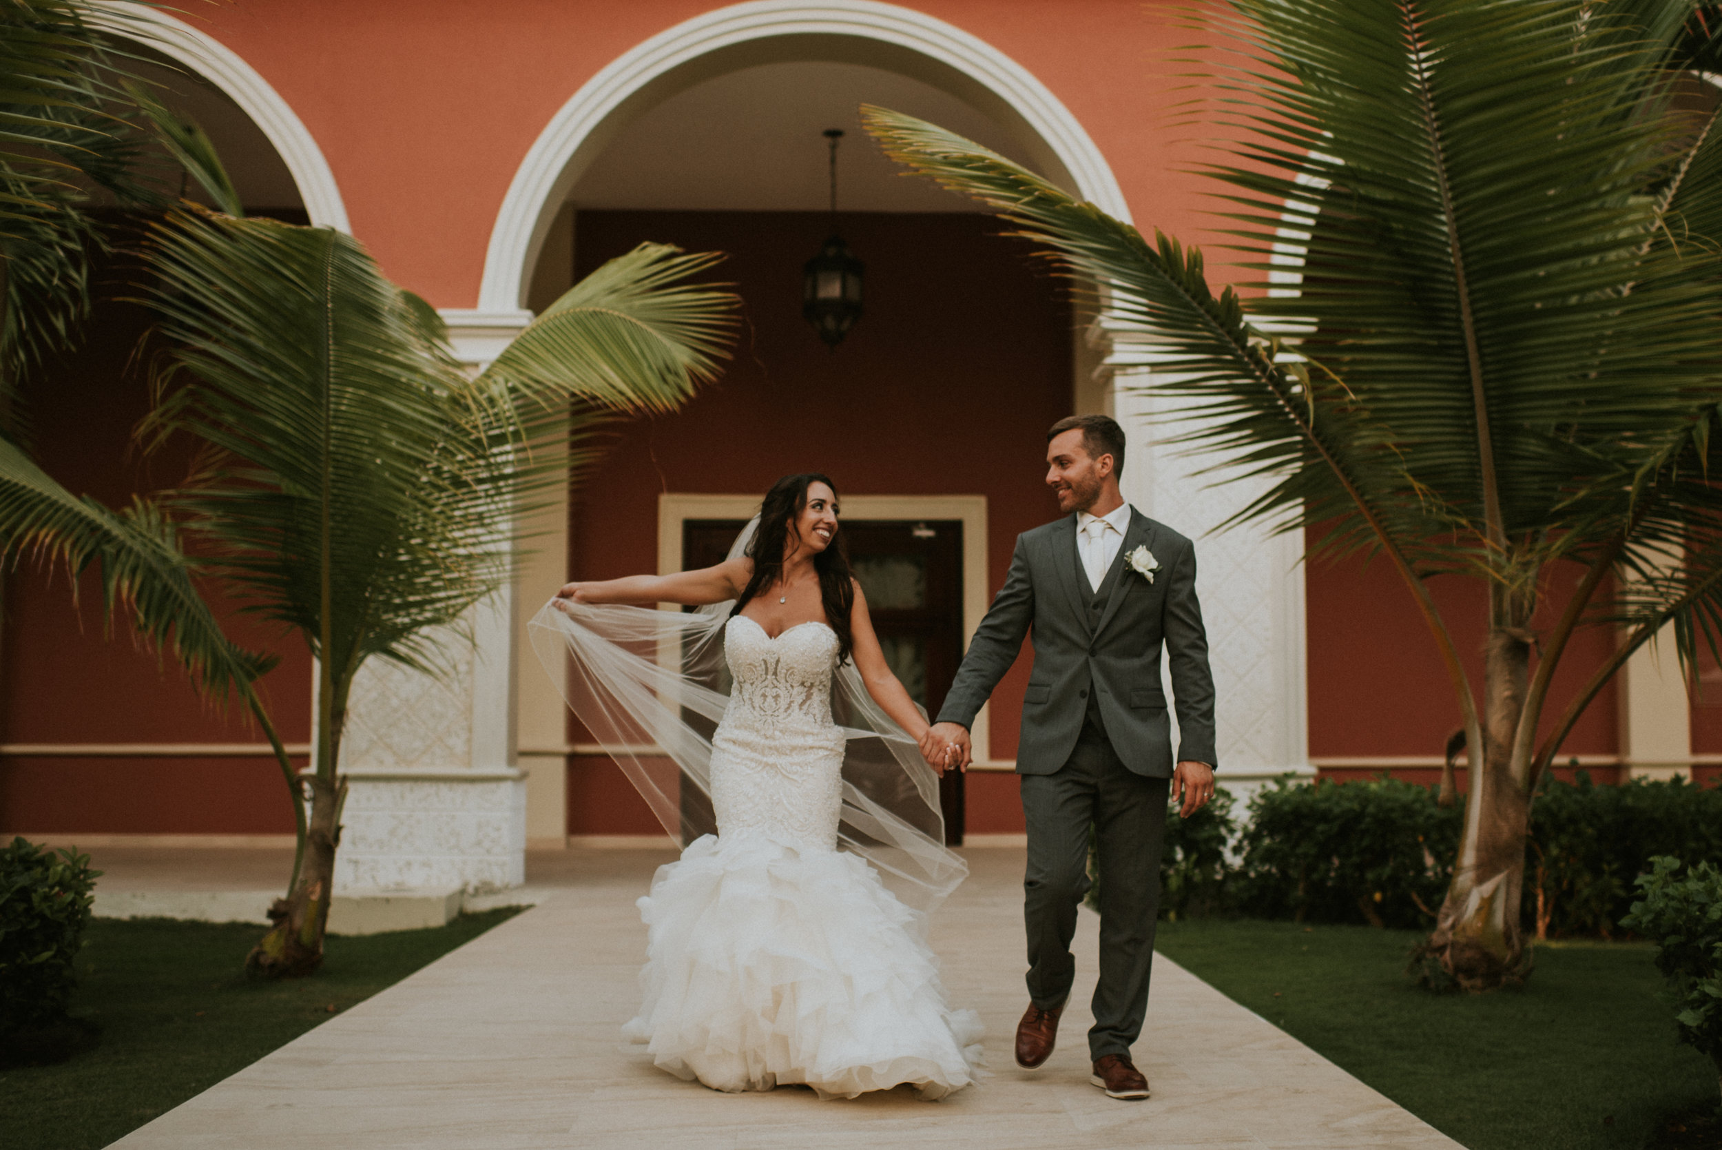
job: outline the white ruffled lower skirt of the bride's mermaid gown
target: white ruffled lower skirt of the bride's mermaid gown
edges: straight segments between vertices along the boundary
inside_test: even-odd
[[[975,1081],[980,1019],[949,1007],[921,916],[863,859],[706,835],[639,907],[644,1005],[625,1033],[672,1074],[821,1098],[909,1083],[932,1100]]]

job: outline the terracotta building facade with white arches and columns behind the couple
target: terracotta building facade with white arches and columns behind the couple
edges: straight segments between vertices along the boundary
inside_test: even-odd
[[[150,17],[162,83],[210,129],[248,208],[353,232],[441,310],[470,363],[646,239],[727,251],[720,275],[744,300],[723,379],[673,417],[615,429],[568,504],[534,523],[523,578],[479,613],[456,675],[367,671],[344,756],[355,785],[339,881],[511,885],[529,842],[656,833],[570,725],[560,671],[537,666],[525,618],[567,578],[708,556],[782,473],[837,480],[868,570],[882,587],[899,580],[894,658],[937,702],[1016,535],[1056,515],[1044,432],[1073,411],[1124,424],[1126,496],[1199,541],[1221,782],[1381,768],[1434,778],[1457,708],[1388,566],[1305,566],[1295,535],[1216,530],[1254,491],[1207,473],[1223,460],[1166,446],[1174,411],[1155,391],[1154,349],[1114,341],[992,217],[902,177],[859,131],[863,103],[921,115],[1143,231],[1217,244],[1197,170],[1211,155],[1178,115],[1190,40],[1178,7],[234,0]],[[847,133],[835,220],[828,127]],[[835,351],[799,312],[801,265],[833,227],[866,263],[864,315]],[[38,448],[74,491],[121,501],[184,467],[129,446],[146,403],[133,355],[145,327],[134,308],[103,305],[88,346],[40,387]],[[257,732],[107,637],[84,590],[74,606],[64,577],[7,575],[0,826],[86,842],[291,832]],[[1481,666],[1481,592],[1436,594]],[[269,699],[303,749],[308,654],[234,625],[281,651]],[[1610,639],[1586,642],[1557,704]],[[1670,647],[1632,661],[1564,763],[1601,780],[1717,770],[1722,694],[1689,692]],[[1021,832],[1009,771],[1028,663],[976,732],[980,764],[961,795],[969,837]]]

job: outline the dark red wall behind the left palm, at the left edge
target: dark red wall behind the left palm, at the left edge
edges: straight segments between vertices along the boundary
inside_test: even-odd
[[[102,305],[83,351],[29,391],[38,458],[71,491],[108,506],[181,479],[186,451],[139,458],[131,429],[148,387],[127,358],[141,308]],[[310,656],[298,640],[227,611],[239,642],[276,649],[263,689],[281,735],[310,737]],[[263,742],[239,713],[198,701],[172,661],[138,649],[129,628],[103,634],[102,589],[86,573],[74,606],[64,572],[5,575],[0,635],[0,742]],[[274,759],[0,759],[0,830],[77,833],[277,833],[293,830]]]

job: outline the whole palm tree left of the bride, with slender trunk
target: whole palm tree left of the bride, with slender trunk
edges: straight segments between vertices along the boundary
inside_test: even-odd
[[[544,448],[606,413],[673,410],[713,374],[734,296],[680,281],[715,260],[642,244],[468,377],[436,312],[350,236],[200,210],[153,231],[150,303],[174,353],[146,430],[210,448],[162,506],[319,666],[303,861],[253,968],[320,962],[355,675],[370,658],[444,666],[448,628],[511,575],[513,516],[567,482]]]

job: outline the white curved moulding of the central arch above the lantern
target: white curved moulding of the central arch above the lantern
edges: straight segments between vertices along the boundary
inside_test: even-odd
[[[895,53],[904,71],[925,62],[940,72],[938,86],[951,86],[956,77],[964,88],[959,95],[1014,121],[1025,143],[1038,145],[1035,160],[1050,179],[1066,182],[1109,215],[1130,219],[1111,165],[1069,108],[1028,69],[978,36],[876,0],[753,0],[706,12],[639,43],[551,117],[503,196],[477,308],[460,318],[479,325],[522,317],[532,265],[556,207],[584,164],[616,131],[616,121],[627,119],[630,103],[654,102],[666,88],[678,90],[728,67],[770,60],[773,43],[790,53],[816,46],[827,59],[842,59],[842,41]]]

